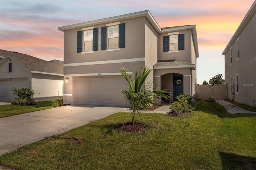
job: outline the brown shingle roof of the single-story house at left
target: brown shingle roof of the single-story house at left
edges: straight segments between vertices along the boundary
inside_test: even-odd
[[[28,68],[30,71],[39,71],[63,75],[63,61],[55,59],[51,61],[46,61],[33,57],[31,55],[0,49],[0,56],[5,57],[6,55],[9,55],[20,64],[22,64],[24,67]]]

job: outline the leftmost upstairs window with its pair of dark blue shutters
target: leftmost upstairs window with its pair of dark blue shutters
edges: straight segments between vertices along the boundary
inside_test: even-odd
[[[98,50],[99,28],[88,27],[77,32],[77,52],[88,53]]]

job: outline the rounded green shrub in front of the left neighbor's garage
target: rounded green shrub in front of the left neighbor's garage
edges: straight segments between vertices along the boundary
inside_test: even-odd
[[[13,105],[34,105],[35,99],[33,99],[34,91],[30,90],[29,88],[21,88],[21,89],[16,89],[13,87],[12,91],[14,91],[14,95],[17,95],[17,97],[14,98],[11,103]]]

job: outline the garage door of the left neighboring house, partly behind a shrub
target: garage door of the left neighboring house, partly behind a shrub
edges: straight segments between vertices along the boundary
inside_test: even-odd
[[[13,87],[16,89],[28,88],[28,79],[11,79],[0,81],[0,101],[12,101],[17,95],[13,94]]]

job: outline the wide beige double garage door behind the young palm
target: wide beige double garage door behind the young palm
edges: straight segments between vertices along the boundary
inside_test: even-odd
[[[128,83],[122,76],[76,77],[75,104],[127,106],[119,92],[127,89]]]

